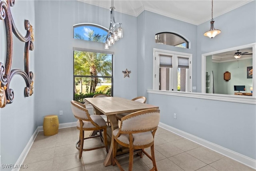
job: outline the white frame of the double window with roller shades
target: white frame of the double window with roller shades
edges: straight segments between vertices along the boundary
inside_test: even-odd
[[[169,50],[162,50],[153,48],[153,89],[159,90],[159,56],[167,55],[172,56],[172,68],[170,71],[170,90],[166,91],[177,91],[178,88],[178,57],[189,58],[189,68],[188,68],[188,77],[187,77],[187,85],[185,92],[192,92],[192,54],[182,53],[182,52],[174,52]],[[173,87],[172,87],[173,85]],[[173,89],[173,90],[171,90]],[[160,91],[160,90],[159,90]],[[180,91],[177,91],[180,92]],[[184,91],[182,91],[184,92]]]

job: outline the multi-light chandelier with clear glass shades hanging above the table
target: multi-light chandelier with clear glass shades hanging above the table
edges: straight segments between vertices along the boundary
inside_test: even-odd
[[[121,28],[122,23],[115,21],[115,7],[114,0],[111,1],[110,7],[110,26],[105,41],[105,49],[108,49],[115,41],[123,37],[123,29]]]

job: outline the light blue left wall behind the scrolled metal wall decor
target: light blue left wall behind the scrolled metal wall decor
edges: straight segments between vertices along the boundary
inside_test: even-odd
[[[12,17],[18,31],[25,36],[24,20],[29,20],[35,27],[34,1],[15,1],[11,7]],[[5,31],[3,21],[1,22],[1,58],[5,64]],[[35,30],[34,33],[36,34]],[[20,42],[13,36],[13,60],[12,68],[24,70],[24,42]],[[37,38],[35,38],[37,41]],[[37,49],[37,47],[35,47]],[[29,52],[29,69],[35,73],[35,50]],[[35,73],[36,75],[36,73]],[[30,97],[24,97],[25,81],[20,75],[15,75],[11,80],[10,88],[14,91],[14,101],[0,109],[0,155],[2,164],[15,164],[34,131],[38,127],[36,122],[36,112],[34,110],[34,99],[36,92]],[[0,166],[1,167],[1,166]],[[2,169],[1,169],[2,170]],[[3,169],[6,170],[6,169]],[[8,170],[11,170],[8,169]]]

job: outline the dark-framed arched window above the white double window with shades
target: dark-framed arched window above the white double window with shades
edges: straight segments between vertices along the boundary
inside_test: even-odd
[[[185,38],[171,32],[157,33],[155,40],[157,44],[166,44],[180,48],[188,48],[188,41]]]

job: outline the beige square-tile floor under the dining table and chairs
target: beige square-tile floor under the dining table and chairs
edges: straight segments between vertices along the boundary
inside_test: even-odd
[[[58,134],[52,136],[44,136],[43,131],[39,132],[23,163],[28,168],[20,171],[119,170],[117,166],[104,167],[106,150],[103,148],[84,151],[82,159],[78,159],[75,147],[78,136],[76,127],[59,129]],[[100,142],[97,139],[88,141],[90,145]],[[158,171],[255,171],[161,127],[158,127],[155,135],[155,155]],[[128,160],[128,155],[122,155],[118,159],[125,170],[128,170]],[[148,171],[150,168],[152,163],[146,155],[143,158],[134,155],[134,171]]]

